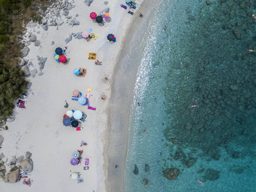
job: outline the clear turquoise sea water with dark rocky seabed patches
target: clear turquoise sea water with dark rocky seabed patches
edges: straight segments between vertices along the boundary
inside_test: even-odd
[[[163,0],[150,20],[124,191],[256,191],[256,2],[207,3]]]

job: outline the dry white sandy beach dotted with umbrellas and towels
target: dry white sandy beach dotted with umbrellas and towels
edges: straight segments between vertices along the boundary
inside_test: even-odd
[[[74,1],[72,4],[76,7],[70,10],[69,15],[75,17],[78,14],[80,25],[71,27],[64,22],[58,30],[49,26],[49,29],[44,31],[39,24],[35,28],[27,29],[26,35],[32,32],[41,42],[39,47],[34,44],[28,46],[30,51],[26,58],[34,65],[29,69],[36,68],[40,72],[36,56],[44,57],[47,58],[42,70],[44,74],[35,78],[28,77],[32,86],[29,89],[26,109],[15,108],[15,121],[8,123],[8,131],[1,131],[0,134],[4,137],[1,152],[8,159],[12,159],[12,156],[24,156],[27,151],[32,153],[34,166],[29,178],[33,182],[31,187],[28,187],[22,184],[23,179],[15,184],[1,180],[1,191],[107,191],[105,182],[108,177],[108,161],[104,150],[107,144],[108,111],[111,107],[108,106],[111,77],[132,19],[141,19],[138,15],[142,1],[136,2],[138,8],[132,16],[127,14],[128,10],[120,8],[120,4],[125,4],[125,1],[113,0],[109,1],[108,5],[104,4],[104,1],[93,1],[91,6],[87,6],[83,1]],[[99,14],[104,8],[110,8],[111,17],[111,22],[107,22],[106,28],[99,26],[89,17],[91,12]],[[61,18],[65,21],[63,15]],[[89,28],[99,35],[97,42],[72,37],[72,41],[65,44],[68,35],[87,31]],[[106,36],[109,33],[116,36],[115,44],[108,44]],[[55,42],[54,45],[51,45],[52,41]],[[68,47],[66,53],[70,58],[67,65],[57,63],[53,58],[54,50],[65,46]],[[102,61],[102,65],[95,65],[94,60],[88,60],[88,52],[97,52],[97,59]],[[85,77],[73,74],[74,68],[79,67],[87,68]],[[108,77],[108,80],[105,77]],[[90,106],[97,108],[96,111],[89,110],[71,99],[74,90],[84,94],[88,93],[88,88],[93,89],[89,102]],[[101,99],[102,95],[105,100]],[[63,107],[65,100],[69,104],[67,109]],[[63,125],[63,115],[68,109],[81,110],[88,114],[86,122],[81,125],[84,127],[82,131]],[[88,145],[80,147],[81,140],[86,141]],[[72,152],[77,149],[84,150],[83,161],[80,166],[72,166]],[[83,170],[84,158],[90,158],[89,170]],[[8,166],[6,168],[8,169]],[[70,170],[81,172],[84,182],[77,184],[77,180],[72,180]]]

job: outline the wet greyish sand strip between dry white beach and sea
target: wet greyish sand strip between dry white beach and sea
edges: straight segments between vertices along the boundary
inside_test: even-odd
[[[145,41],[140,44],[137,39],[142,40],[148,31],[146,23],[149,22],[154,6],[153,1],[143,1],[137,13],[142,13],[143,18],[134,18],[134,24],[127,30],[125,41],[120,56],[113,72],[113,83],[111,86],[111,100],[109,101],[106,159],[108,159],[108,177],[106,179],[107,191],[124,191],[124,170],[125,159],[127,156],[127,143],[129,138],[129,121],[131,118],[131,104],[133,100],[133,91],[138,73],[138,67],[145,47]],[[157,6],[157,3],[155,4]],[[143,33],[141,33],[143,31]],[[129,35],[129,34],[134,35]],[[139,51],[136,52],[135,50]],[[132,58],[131,63],[127,63],[129,56],[138,54]],[[121,57],[122,56],[122,57]],[[127,58],[125,60],[125,58]],[[110,108],[111,106],[111,108]],[[115,168],[118,164],[118,168]]]

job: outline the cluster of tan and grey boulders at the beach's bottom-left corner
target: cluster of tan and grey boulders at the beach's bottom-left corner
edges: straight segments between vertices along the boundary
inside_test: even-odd
[[[26,159],[24,156],[15,157],[8,162],[8,158],[4,161],[4,154],[0,155],[0,176],[3,178],[4,182],[15,183],[20,179],[20,170],[23,172],[33,171],[33,161],[31,159],[32,154],[26,152]],[[8,162],[8,163],[7,163]],[[10,171],[7,173],[6,166]]]

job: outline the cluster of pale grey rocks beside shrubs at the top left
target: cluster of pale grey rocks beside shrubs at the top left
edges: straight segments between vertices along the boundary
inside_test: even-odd
[[[74,1],[69,3],[68,0],[53,2],[45,10],[45,17],[41,20],[42,28],[47,31],[49,26],[57,26],[58,29],[58,26],[61,26],[64,22],[70,26],[79,25],[80,22],[77,20],[79,15],[76,14],[76,17],[69,15],[69,11],[76,6],[73,3]]]

